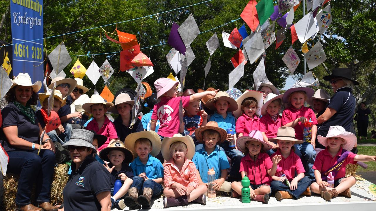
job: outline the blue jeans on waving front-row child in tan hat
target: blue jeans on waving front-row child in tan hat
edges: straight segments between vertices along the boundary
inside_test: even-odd
[[[309,179],[307,176],[299,180],[298,187],[295,190],[290,190],[285,183],[277,180],[273,180],[270,184],[273,194],[275,194],[277,191],[287,191],[293,195],[294,199],[299,199],[299,196],[304,193],[309,185],[311,185],[311,179]]]

